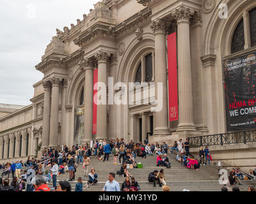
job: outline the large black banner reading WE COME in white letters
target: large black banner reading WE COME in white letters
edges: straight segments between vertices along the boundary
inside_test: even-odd
[[[227,131],[256,128],[256,52],[223,61]]]

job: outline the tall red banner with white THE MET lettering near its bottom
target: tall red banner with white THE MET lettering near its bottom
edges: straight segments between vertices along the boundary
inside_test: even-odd
[[[174,121],[179,119],[176,33],[170,34],[167,40],[168,40],[169,120]]]

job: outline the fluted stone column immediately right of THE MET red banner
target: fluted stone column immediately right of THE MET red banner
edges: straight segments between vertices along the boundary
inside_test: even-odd
[[[196,131],[193,120],[193,93],[191,78],[191,55],[189,19],[193,15],[189,8],[180,6],[175,10],[178,36],[179,67],[179,126],[177,131]]]

